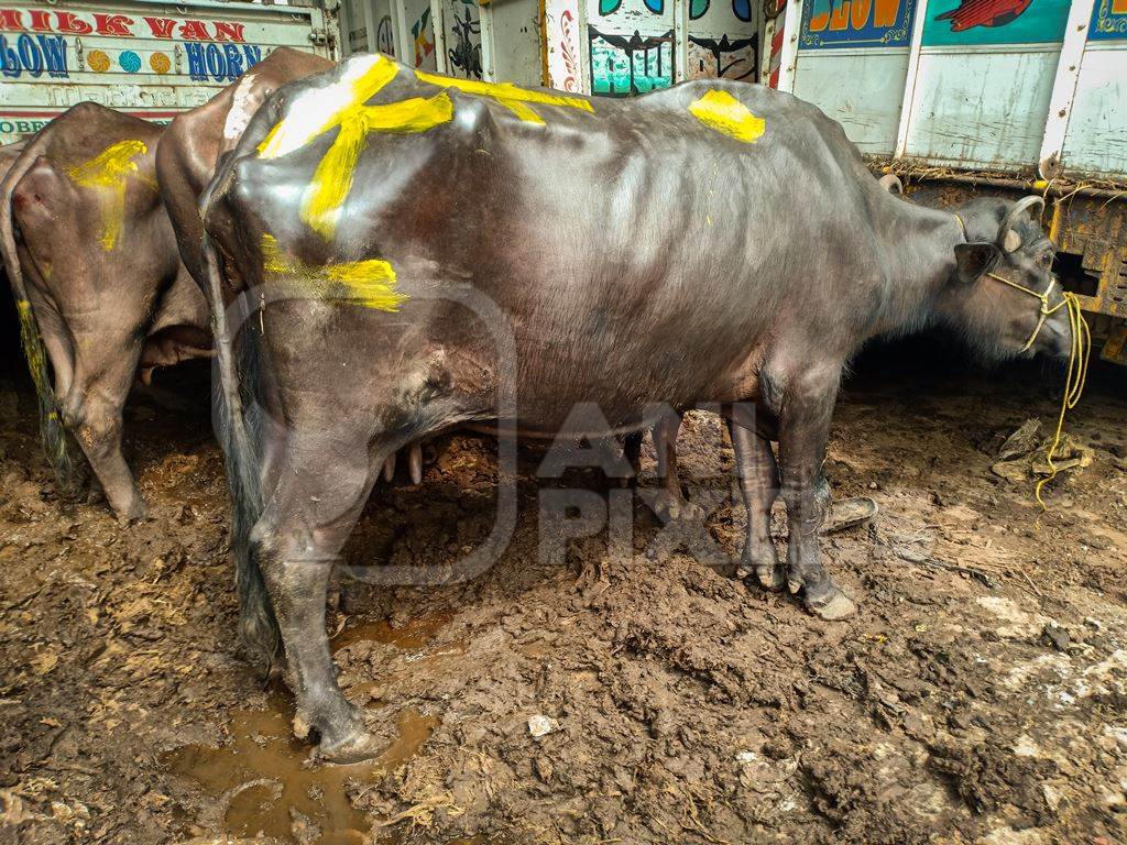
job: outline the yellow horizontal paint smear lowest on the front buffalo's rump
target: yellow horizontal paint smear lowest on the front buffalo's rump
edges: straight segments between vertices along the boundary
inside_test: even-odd
[[[409,299],[396,291],[396,270],[389,261],[370,258],[314,267],[283,252],[272,234],[263,235],[263,268],[272,276],[298,278],[312,285],[319,297],[330,302],[398,311],[400,303]]]

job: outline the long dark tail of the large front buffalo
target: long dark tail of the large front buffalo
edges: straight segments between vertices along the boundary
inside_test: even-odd
[[[219,251],[206,231],[212,197],[227,183],[230,171],[221,164],[201,198],[204,221],[202,247],[206,293],[212,305],[215,335],[216,376],[212,379],[214,420],[227,470],[231,497],[231,551],[234,554],[234,582],[239,594],[239,635],[267,673],[278,661],[282,637],[274,605],[259,566],[259,546],[251,532],[263,514],[259,434],[261,409],[259,393],[259,349],[256,320],[232,327],[223,297],[223,276]],[[234,332],[239,343],[234,343]]]

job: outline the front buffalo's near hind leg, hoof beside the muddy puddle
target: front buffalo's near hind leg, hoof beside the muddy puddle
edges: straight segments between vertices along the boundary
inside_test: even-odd
[[[387,452],[371,452],[355,435],[291,435],[278,456],[276,489],[251,536],[282,634],[295,729],[316,729],[318,756],[334,763],[381,750],[337,685],[325,606],[332,567]]]

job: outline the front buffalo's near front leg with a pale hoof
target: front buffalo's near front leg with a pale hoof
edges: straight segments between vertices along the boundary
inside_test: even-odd
[[[780,478],[790,527],[787,579],[811,612],[828,620],[857,610],[823,568],[818,549],[818,532],[829,509],[823,464],[840,377],[840,368],[828,367],[796,374],[787,380],[779,409]]]

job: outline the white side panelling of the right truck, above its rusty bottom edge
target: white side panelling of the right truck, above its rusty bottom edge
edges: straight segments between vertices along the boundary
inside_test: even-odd
[[[791,0],[786,19],[779,87],[862,152],[1127,177],[1125,0]]]

